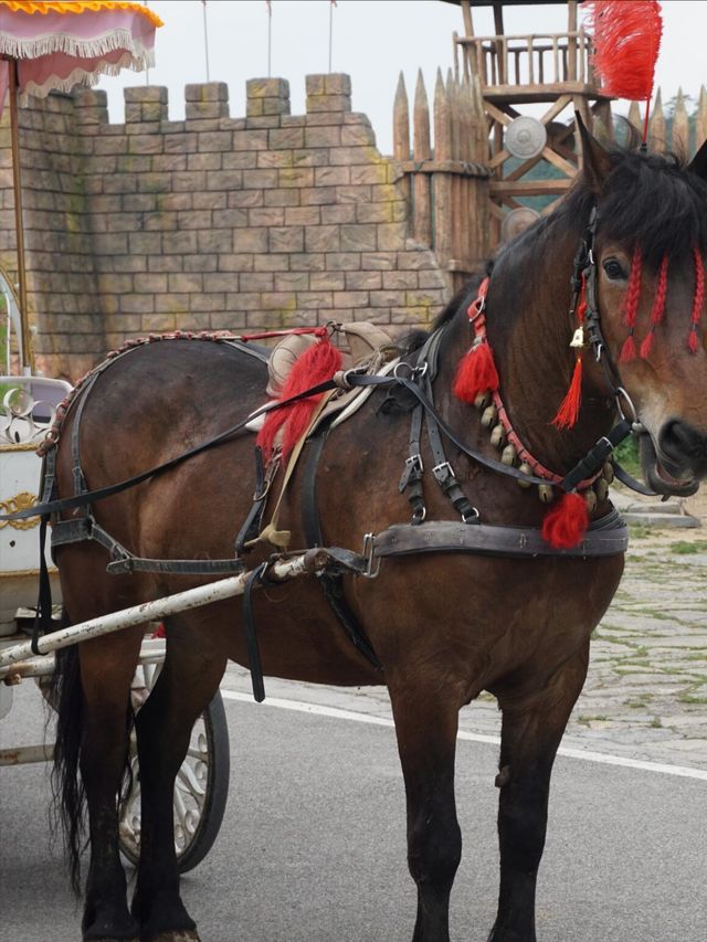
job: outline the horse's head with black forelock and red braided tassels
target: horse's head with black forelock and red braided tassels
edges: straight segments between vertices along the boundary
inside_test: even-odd
[[[601,329],[645,430],[643,473],[659,494],[694,494],[707,477],[707,145],[684,167],[582,137]]]

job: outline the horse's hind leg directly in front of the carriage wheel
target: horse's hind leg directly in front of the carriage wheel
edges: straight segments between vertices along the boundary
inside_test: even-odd
[[[179,622],[169,621],[165,665],[136,718],[141,830],[133,914],[144,942],[198,939],[179,895],[173,790],[192,727],[219,686],[225,655],[210,650],[208,631],[198,639],[179,631]]]

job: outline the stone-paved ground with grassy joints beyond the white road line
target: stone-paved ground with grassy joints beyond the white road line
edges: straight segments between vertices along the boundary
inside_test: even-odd
[[[707,521],[707,496],[686,509]],[[707,769],[707,526],[631,527],[623,581],[594,633],[589,677],[563,745]],[[224,687],[250,691],[230,667]],[[382,687],[340,688],[266,680],[270,697],[390,716]],[[497,734],[496,701],[462,711],[461,728]]]

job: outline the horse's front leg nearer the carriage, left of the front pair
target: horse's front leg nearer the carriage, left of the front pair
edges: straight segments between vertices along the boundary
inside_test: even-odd
[[[408,803],[408,865],[418,885],[413,942],[449,942],[450,893],[462,857],[454,802],[458,703],[442,684],[389,682]]]

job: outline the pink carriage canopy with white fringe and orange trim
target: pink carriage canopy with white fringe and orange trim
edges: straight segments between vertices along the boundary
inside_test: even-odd
[[[154,65],[159,25],[141,3],[0,2],[0,55],[17,60],[23,95],[44,97]]]

